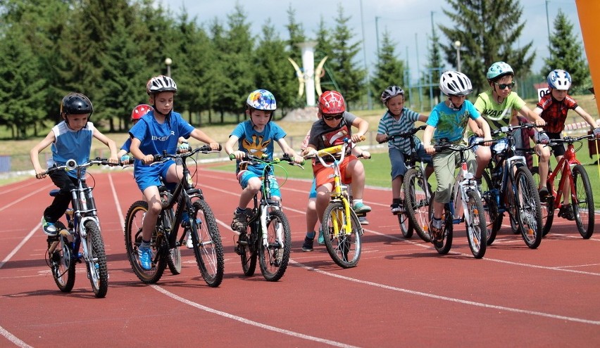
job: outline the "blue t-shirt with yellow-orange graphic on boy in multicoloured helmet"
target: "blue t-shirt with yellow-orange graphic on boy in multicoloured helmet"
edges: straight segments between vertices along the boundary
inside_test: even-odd
[[[285,138],[286,135],[285,131],[273,122],[268,122],[265,124],[265,129],[258,132],[252,127],[250,120],[238,124],[230,134],[230,136],[237,136],[238,150],[256,157],[266,155],[268,160],[273,159],[274,143]],[[262,176],[264,167],[265,165],[254,165],[246,169],[254,172],[256,175]],[[237,161],[236,172],[239,172],[239,161]]]

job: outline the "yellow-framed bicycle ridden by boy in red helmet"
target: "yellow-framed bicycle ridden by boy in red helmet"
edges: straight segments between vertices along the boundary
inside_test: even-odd
[[[330,202],[325,208],[321,228],[325,247],[333,261],[340,267],[351,268],[361,258],[361,236],[363,228],[358,216],[352,210],[348,186],[342,184],[339,164],[344,161],[346,149],[351,146],[351,139],[344,138],[342,145],[318,150],[315,157],[325,167],[334,170],[334,185],[330,193]],[[339,160],[336,156],[339,154]],[[327,161],[331,160],[331,163]]]

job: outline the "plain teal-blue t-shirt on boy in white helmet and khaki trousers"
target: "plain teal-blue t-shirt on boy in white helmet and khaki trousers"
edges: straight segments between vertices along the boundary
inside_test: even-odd
[[[435,127],[433,139],[439,142],[442,138],[455,143],[463,138],[468,119],[477,120],[480,117],[475,105],[465,100],[460,110],[452,110],[446,103],[435,105],[427,119],[427,125]]]

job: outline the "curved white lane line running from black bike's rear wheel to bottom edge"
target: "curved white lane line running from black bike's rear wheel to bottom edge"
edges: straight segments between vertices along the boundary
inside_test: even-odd
[[[337,341],[332,341],[332,340],[325,340],[323,338],[320,337],[315,337],[315,336],[311,336],[311,335],[305,335],[304,333],[296,333],[295,331],[292,330],[285,330],[282,328],[277,328],[275,326],[270,326],[270,325],[266,325],[263,323],[258,323],[258,321],[252,321],[250,319],[246,319],[246,318],[242,318],[241,316],[235,316],[233,314],[229,314],[225,311],[219,311],[217,309],[213,309],[211,307],[206,307],[203,306],[199,303],[196,302],[192,302],[189,301],[189,299],[185,299],[183,297],[180,297],[178,295],[175,295],[173,292],[170,292],[168,290],[165,290],[164,288],[161,288],[158,285],[150,285],[152,288],[154,288],[154,290],[163,293],[163,295],[167,295],[168,297],[175,299],[176,301],[182,302],[184,304],[187,304],[189,306],[195,307],[197,309],[200,309],[202,311],[207,311],[208,313],[211,314],[216,314],[218,316],[223,316],[225,318],[228,319],[232,319],[235,321],[239,321],[240,323],[244,323],[244,324],[248,324],[251,326],[256,326],[257,328],[262,328],[265,330],[270,330],[273,331],[274,333],[281,333],[283,335],[289,335],[292,337],[296,337],[296,338],[301,338],[303,340],[309,340],[309,341],[313,341],[313,342],[319,342],[319,343],[323,343],[323,344],[329,344],[331,346],[334,347],[345,347],[345,348],[351,348],[351,347],[356,347],[356,346],[352,346],[350,344],[346,344],[346,343],[342,343],[342,342],[337,342]]]

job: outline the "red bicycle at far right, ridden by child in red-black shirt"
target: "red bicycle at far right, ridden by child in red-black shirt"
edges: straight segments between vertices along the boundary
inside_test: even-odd
[[[550,231],[552,221],[554,221],[554,210],[559,210],[563,207],[563,198],[565,195],[570,193],[571,207],[573,208],[573,215],[575,217],[575,225],[577,225],[577,231],[584,239],[589,239],[594,233],[594,195],[592,194],[592,185],[589,183],[589,176],[585,170],[585,167],[581,165],[581,162],[577,160],[577,150],[579,150],[583,144],[582,140],[585,138],[594,138],[593,134],[587,134],[584,136],[565,136],[562,139],[551,139],[550,143],[546,146],[556,146],[559,144],[567,144],[567,150],[565,155],[561,158],[560,162],[556,164],[554,170],[549,167],[548,179],[546,180],[546,188],[548,188],[548,195],[544,198],[540,198],[542,203],[542,235]],[[574,143],[578,143],[579,146],[575,149]],[[537,178],[539,183],[539,167],[532,169],[532,174]],[[558,188],[554,188],[554,181],[560,174],[558,181]],[[565,184],[570,184],[570,192],[565,192]],[[590,214],[590,210],[592,213]],[[558,214],[560,217],[561,215]]]

